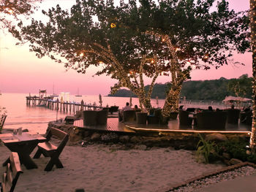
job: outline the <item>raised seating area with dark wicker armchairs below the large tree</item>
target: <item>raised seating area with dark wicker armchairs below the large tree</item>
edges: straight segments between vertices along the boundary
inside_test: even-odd
[[[103,128],[100,125],[107,124],[107,115],[99,115],[99,117],[104,116],[104,122],[97,123],[99,121],[99,117],[97,117],[97,113],[101,113],[102,111],[84,111],[83,112],[83,122],[84,126],[87,128]],[[86,113],[89,113],[86,117]],[[102,112],[104,113],[104,112]],[[92,116],[93,115],[93,116]],[[243,120],[240,116],[243,116]],[[176,120],[178,117],[178,120]],[[113,117],[111,117],[113,118]],[[239,120],[240,118],[240,120]],[[88,119],[88,120],[87,120]],[[86,122],[87,120],[87,122]],[[246,128],[246,126],[241,125],[241,123],[246,125],[252,124],[252,113],[250,112],[241,112],[237,109],[226,109],[226,110],[213,110],[211,107],[208,109],[200,109],[195,107],[190,107],[185,110],[178,110],[178,112],[170,112],[169,117],[164,118],[162,116],[161,108],[152,108],[148,114],[148,112],[141,112],[141,110],[125,110],[118,111],[118,121],[123,122],[125,124],[129,124],[129,126],[143,127],[143,128],[167,128],[169,129],[192,129],[192,130],[220,130],[224,131],[230,130],[230,128],[234,131],[241,129],[246,131],[250,130],[250,128]],[[176,125],[177,124],[177,125]]]

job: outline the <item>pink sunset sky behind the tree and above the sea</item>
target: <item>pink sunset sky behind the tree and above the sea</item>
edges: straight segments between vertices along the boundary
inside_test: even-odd
[[[230,8],[236,12],[249,9],[249,0],[229,0]],[[44,0],[38,4],[40,9],[55,7],[69,8],[75,1]],[[39,20],[41,11],[33,17]],[[92,77],[96,72],[95,67],[91,67],[86,74],[78,74],[75,70],[65,71],[62,64],[51,61],[50,58],[37,58],[35,53],[29,52],[29,45],[16,46],[15,39],[7,32],[0,31],[0,91],[2,93],[38,93],[39,89],[47,89],[48,93],[69,92],[80,94],[108,94],[110,86],[116,80],[104,75]],[[220,69],[208,71],[194,70],[191,74],[192,80],[214,80],[220,77],[227,79],[240,77],[242,74],[252,76],[252,53],[236,54],[235,61],[244,63],[245,66],[222,66]],[[168,82],[170,77],[159,77],[157,82]],[[146,82],[148,84],[148,82]]]

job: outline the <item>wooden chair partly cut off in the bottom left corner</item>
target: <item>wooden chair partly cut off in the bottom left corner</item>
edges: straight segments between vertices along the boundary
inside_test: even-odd
[[[10,162],[7,164],[6,172],[4,172],[2,176],[1,191],[14,191],[20,173],[23,173],[23,171],[20,168],[19,155],[16,152],[12,152],[10,155]]]

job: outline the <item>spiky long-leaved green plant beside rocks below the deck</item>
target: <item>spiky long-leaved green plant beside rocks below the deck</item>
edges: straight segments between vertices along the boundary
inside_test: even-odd
[[[197,151],[195,155],[197,157],[197,160],[200,158],[200,156],[203,156],[205,163],[208,164],[210,155],[215,153],[215,142],[206,142],[201,134],[198,135],[200,137],[200,140],[197,143]]]

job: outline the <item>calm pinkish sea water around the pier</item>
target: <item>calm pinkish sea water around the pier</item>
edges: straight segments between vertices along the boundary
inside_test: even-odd
[[[36,94],[31,94],[34,96]],[[37,94],[38,95],[38,94]],[[37,131],[39,134],[45,134],[48,122],[56,120],[56,110],[49,110],[45,107],[34,107],[26,105],[26,96],[24,93],[2,93],[0,96],[0,106],[6,107],[7,119],[4,123],[4,128],[28,128],[29,131]],[[57,99],[57,98],[56,98]],[[67,98],[66,98],[67,99]],[[80,102],[83,99],[86,104],[99,105],[99,96],[81,96],[75,97],[69,95],[69,101]],[[108,97],[102,96],[102,106],[116,105],[119,108],[124,107],[125,103],[129,102],[127,97]],[[159,99],[159,107],[164,104],[164,99]],[[139,106],[138,98],[132,98],[133,106]],[[151,104],[157,107],[156,99],[152,99]],[[58,118],[65,118],[69,113],[58,112]]]

